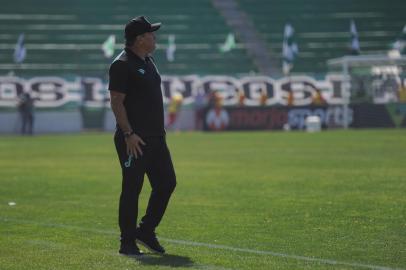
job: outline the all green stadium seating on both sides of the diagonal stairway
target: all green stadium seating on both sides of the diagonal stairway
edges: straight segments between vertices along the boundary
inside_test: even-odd
[[[349,53],[351,19],[362,54],[386,53],[405,24],[404,0],[236,1],[276,62],[281,59],[283,27],[287,22],[293,25],[300,52],[292,72],[307,75],[323,75],[327,59]],[[101,44],[116,35],[117,54],[125,22],[140,14],[164,24],[155,53],[162,74],[235,76],[258,71],[241,42],[236,49],[219,53],[219,45],[233,29],[210,0],[16,0],[0,11],[0,74],[103,77],[111,59],[103,56]],[[16,65],[13,51],[20,33],[25,34],[27,57]],[[165,56],[170,34],[176,37],[174,62]]]

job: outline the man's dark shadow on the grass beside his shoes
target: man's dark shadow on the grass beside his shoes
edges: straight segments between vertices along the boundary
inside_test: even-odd
[[[137,258],[137,261],[147,265],[162,265],[170,267],[192,267],[193,261],[186,256],[165,254],[162,256],[145,254]]]

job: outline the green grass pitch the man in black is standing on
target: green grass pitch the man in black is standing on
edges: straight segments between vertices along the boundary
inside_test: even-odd
[[[119,256],[112,134],[0,137],[0,269],[405,269],[406,131],[168,135],[167,256]],[[143,214],[150,187],[141,195]],[[16,205],[9,205],[15,202]]]

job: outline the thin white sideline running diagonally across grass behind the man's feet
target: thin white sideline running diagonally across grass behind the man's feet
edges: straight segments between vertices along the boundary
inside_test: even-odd
[[[98,230],[98,229],[90,229],[90,228],[65,225],[65,224],[42,223],[42,222],[36,222],[36,221],[30,221],[30,220],[10,219],[10,218],[4,218],[4,217],[0,217],[0,221],[20,223],[20,224],[33,224],[33,225],[43,226],[43,227],[56,227],[56,228],[72,229],[72,230],[79,230],[79,231],[86,231],[86,232],[93,232],[93,233],[100,233],[100,234],[110,234],[110,235],[117,234],[116,231]],[[368,268],[368,269],[373,269],[373,270],[406,270],[404,268],[391,268],[391,267],[387,267],[387,266],[379,266],[379,265],[364,264],[364,263],[357,263],[357,262],[343,262],[343,261],[320,259],[320,258],[306,257],[306,256],[299,256],[299,255],[290,255],[290,254],[284,254],[284,253],[273,252],[273,251],[263,251],[263,250],[255,250],[255,249],[248,249],[248,248],[237,248],[237,247],[231,247],[231,246],[225,246],[225,245],[216,245],[216,244],[200,243],[200,242],[194,242],[194,241],[176,240],[176,239],[169,239],[169,238],[163,238],[163,237],[160,237],[159,239],[161,239],[165,242],[168,242],[168,243],[179,244],[179,245],[199,246],[199,247],[207,247],[207,248],[211,248],[211,249],[223,249],[223,250],[230,250],[230,251],[235,251],[235,252],[269,255],[269,256],[282,257],[282,258],[287,258],[287,259],[295,259],[295,260],[299,260],[299,261],[318,262],[318,263],[331,264],[331,265],[345,265],[345,266],[352,266],[352,267]]]

